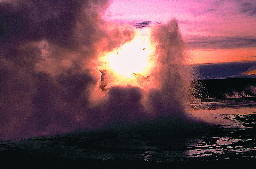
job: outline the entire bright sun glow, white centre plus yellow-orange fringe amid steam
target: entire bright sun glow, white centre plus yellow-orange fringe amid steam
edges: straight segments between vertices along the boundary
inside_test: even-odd
[[[139,78],[150,76],[154,63],[150,61],[154,51],[148,37],[137,36],[120,48],[102,54],[97,60],[97,69],[106,70],[104,80],[108,86],[136,85],[142,87]],[[136,73],[136,74],[133,74]]]

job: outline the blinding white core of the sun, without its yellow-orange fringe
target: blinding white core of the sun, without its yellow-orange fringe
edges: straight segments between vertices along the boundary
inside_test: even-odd
[[[147,67],[150,52],[146,40],[137,37],[109,55],[109,64],[117,74],[132,77]]]

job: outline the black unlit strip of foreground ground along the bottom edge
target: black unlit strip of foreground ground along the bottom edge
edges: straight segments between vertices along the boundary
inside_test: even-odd
[[[5,155],[5,154],[3,154]],[[6,159],[6,158],[11,158]],[[95,160],[58,158],[49,154],[17,153],[2,158],[1,168],[243,168],[255,166],[256,160],[218,159],[179,162],[145,162],[137,160]],[[17,160],[18,159],[18,160]]]

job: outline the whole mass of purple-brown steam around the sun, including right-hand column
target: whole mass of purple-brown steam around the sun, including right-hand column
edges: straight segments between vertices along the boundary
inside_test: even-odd
[[[104,0],[0,3],[0,138],[100,129],[114,123],[178,119],[186,112],[188,77],[177,22],[155,25],[157,86],[102,91],[94,60],[135,36],[132,26],[101,18]],[[178,125],[179,126],[179,125]]]

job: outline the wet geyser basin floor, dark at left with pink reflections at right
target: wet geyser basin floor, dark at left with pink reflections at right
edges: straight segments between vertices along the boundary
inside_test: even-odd
[[[197,109],[191,114],[212,127],[189,135],[104,131],[5,140],[0,142],[1,165],[206,165],[207,161],[235,166],[255,162],[256,108]]]

